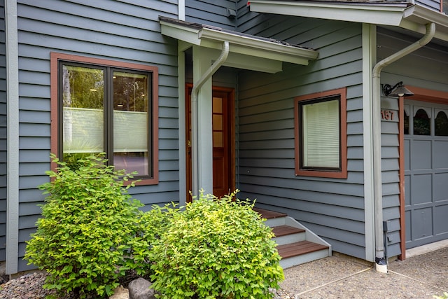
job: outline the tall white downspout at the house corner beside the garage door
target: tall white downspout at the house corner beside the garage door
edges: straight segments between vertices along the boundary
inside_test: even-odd
[[[411,45],[384,58],[372,70],[372,123],[373,123],[373,168],[374,168],[374,230],[375,230],[375,264],[379,272],[387,272],[387,261],[384,258],[383,243],[383,197],[381,180],[381,71],[388,64],[409,55],[415,50],[425,46],[433,39],[435,23],[426,24],[426,34]]]

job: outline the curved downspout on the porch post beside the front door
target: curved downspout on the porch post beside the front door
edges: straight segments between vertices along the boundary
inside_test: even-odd
[[[197,136],[198,132],[198,111],[197,111],[197,96],[199,95],[200,89],[202,85],[213,76],[213,74],[224,64],[225,60],[229,55],[229,42],[223,42],[223,49],[221,51],[221,55],[219,55],[218,59],[211,64],[211,67],[205,71],[202,77],[193,85],[193,89],[191,90],[191,143],[192,143],[192,188],[193,195],[197,195],[199,193],[199,167],[197,165],[197,161],[199,158],[199,138]]]

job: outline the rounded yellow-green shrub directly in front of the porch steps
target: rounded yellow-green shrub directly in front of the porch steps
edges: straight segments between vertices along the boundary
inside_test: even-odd
[[[172,214],[151,250],[161,298],[272,298],[283,279],[272,230],[234,196],[201,193]]]

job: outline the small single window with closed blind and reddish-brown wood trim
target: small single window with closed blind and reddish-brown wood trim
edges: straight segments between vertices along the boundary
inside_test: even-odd
[[[295,174],[346,178],[346,90],[295,98]]]

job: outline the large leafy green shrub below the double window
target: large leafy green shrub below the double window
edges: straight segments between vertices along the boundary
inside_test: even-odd
[[[127,194],[132,183],[123,187],[130,176],[106,166],[103,155],[80,159],[73,168],[52,159],[59,167],[39,186],[48,197],[25,258],[49,273],[44,288],[77,298],[111,295],[127,269],[146,265],[139,256],[147,254],[145,244],[137,246],[135,239],[142,204]],[[133,246],[136,263],[130,263]]]

